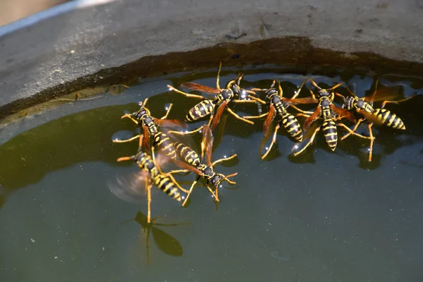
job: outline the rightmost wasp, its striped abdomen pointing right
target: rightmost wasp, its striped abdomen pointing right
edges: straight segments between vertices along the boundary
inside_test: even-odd
[[[398,117],[396,114],[393,114],[391,111],[384,109],[386,104],[398,104],[400,102],[404,102],[408,99],[411,99],[415,95],[408,97],[406,99],[402,99],[399,101],[394,101],[393,99],[396,99],[398,97],[398,92],[388,91],[387,88],[385,90],[378,90],[377,86],[379,83],[379,78],[376,79],[374,92],[370,95],[366,95],[362,98],[357,97],[349,87],[347,87],[348,92],[352,96],[344,97],[341,94],[336,93],[338,97],[341,97],[343,99],[343,109],[347,110],[355,110],[357,113],[362,114],[362,118],[360,118],[357,123],[355,124],[353,130],[349,130],[349,133],[345,134],[343,137],[341,137],[341,140],[344,140],[349,135],[353,134],[358,137],[366,138],[370,140],[370,147],[369,147],[369,158],[368,161],[372,161],[372,152],[373,152],[373,145],[374,145],[374,135],[372,126],[373,123],[376,124],[384,124],[386,126],[389,126],[391,128],[396,128],[400,130],[405,130],[405,124],[401,120],[400,117]],[[380,108],[374,108],[373,103],[374,102],[382,102]],[[358,126],[360,126],[360,123],[364,122],[365,120],[368,121],[367,128],[369,130],[369,137],[365,137],[363,135],[357,134],[356,130]]]

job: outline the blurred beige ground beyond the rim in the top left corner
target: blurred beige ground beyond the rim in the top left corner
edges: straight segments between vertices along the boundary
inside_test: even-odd
[[[0,0],[0,26],[69,0]]]

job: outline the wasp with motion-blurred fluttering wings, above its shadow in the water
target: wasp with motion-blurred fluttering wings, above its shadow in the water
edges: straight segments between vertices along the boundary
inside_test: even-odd
[[[163,161],[163,158],[167,157],[164,157],[163,154],[159,154],[159,161]],[[120,157],[117,161],[128,161],[130,159],[133,159],[140,167],[140,172],[136,173],[132,178],[118,178],[117,184],[110,184],[109,189],[114,192],[116,196],[130,202],[131,198],[140,194],[140,188],[144,185],[145,190],[147,191],[147,222],[150,223],[152,184],[156,185],[166,195],[177,200],[178,202],[181,202],[183,198],[180,195],[179,190],[183,192],[188,191],[180,187],[180,185],[176,182],[175,178],[173,178],[171,174],[163,173],[161,171],[154,157],[154,152],[152,153],[152,157],[150,157],[149,154],[142,152],[142,135],[140,136],[140,145],[137,154],[130,157]]]

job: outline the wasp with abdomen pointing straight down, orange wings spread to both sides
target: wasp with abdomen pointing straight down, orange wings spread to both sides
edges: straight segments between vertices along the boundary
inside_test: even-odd
[[[314,93],[310,90],[310,94],[312,97],[288,99],[288,101],[293,103],[298,103],[298,104],[318,104],[317,108],[312,112],[312,114],[307,114],[307,113],[303,114],[305,113],[305,111],[300,110],[300,113],[301,113],[300,115],[307,117],[303,126],[304,131],[307,131],[310,125],[312,125],[314,121],[317,121],[317,119],[320,118],[321,116],[323,118],[323,123],[320,126],[318,126],[316,129],[314,129],[314,132],[312,133],[312,136],[310,137],[305,147],[302,147],[302,149],[300,149],[299,151],[294,152],[293,153],[294,156],[301,154],[310,144],[312,144],[314,137],[317,135],[319,130],[323,131],[327,145],[332,151],[334,151],[336,149],[336,145],[338,142],[338,133],[336,130],[336,126],[338,125],[344,128],[348,128],[343,123],[336,123],[336,121],[341,118],[348,118],[348,120],[352,121],[353,123],[356,123],[356,120],[353,114],[333,104],[333,99],[335,97],[335,92],[333,92],[333,90],[341,86],[342,83],[338,83],[337,85],[329,89],[322,89],[321,87],[317,86],[316,82],[314,82],[313,80],[311,81],[312,81],[312,84],[315,87],[317,87],[317,89],[319,90],[318,92],[319,99],[317,99]],[[294,146],[294,150],[295,149],[298,149],[298,145]]]

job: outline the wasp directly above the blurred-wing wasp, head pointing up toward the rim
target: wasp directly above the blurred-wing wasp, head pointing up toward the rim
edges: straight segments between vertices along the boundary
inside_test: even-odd
[[[168,106],[168,110],[166,115],[162,118],[154,118],[151,114],[149,109],[145,107],[147,104],[148,98],[144,100],[144,102],[140,102],[140,109],[133,114],[125,114],[121,118],[130,118],[134,123],[137,125],[142,125],[142,135],[144,136],[144,145],[147,148],[147,152],[150,151],[150,135],[153,136],[153,146],[157,146],[161,152],[166,154],[166,157],[171,159],[176,158],[176,151],[175,147],[171,140],[169,139],[168,135],[159,131],[159,126],[179,126],[179,127],[187,127],[186,123],[182,121],[178,121],[175,119],[167,119],[169,112],[171,111],[172,104]],[[139,138],[141,135],[136,135],[128,140],[114,140],[115,143],[123,143],[123,142],[130,142]]]

